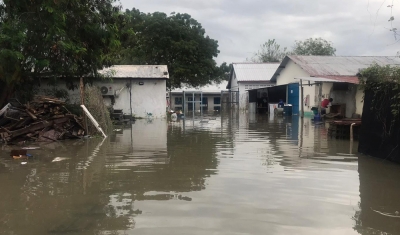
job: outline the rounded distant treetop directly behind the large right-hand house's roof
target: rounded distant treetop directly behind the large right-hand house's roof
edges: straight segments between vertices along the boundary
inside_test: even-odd
[[[293,54],[295,55],[335,55],[336,49],[322,38],[309,38],[304,41],[295,41]]]

